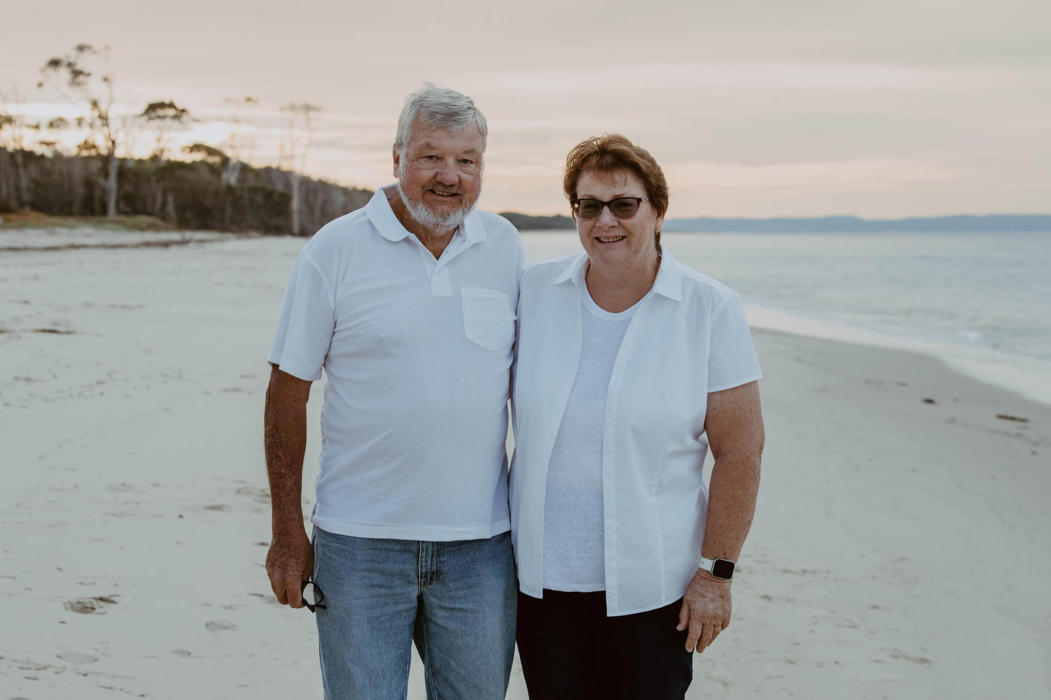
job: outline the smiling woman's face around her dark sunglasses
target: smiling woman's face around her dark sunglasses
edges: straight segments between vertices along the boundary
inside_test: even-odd
[[[577,179],[577,198],[610,201],[617,197],[645,197],[646,188],[630,172],[610,173],[599,178],[583,172]],[[593,264],[603,268],[643,268],[657,258],[655,234],[664,217],[657,216],[652,201],[639,205],[632,218],[617,218],[609,207],[598,218],[577,217],[577,234]]]

